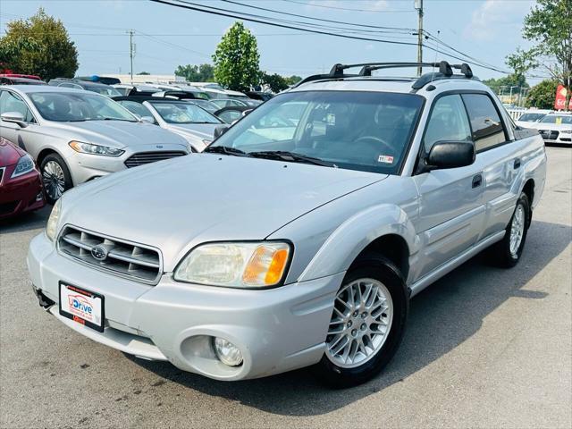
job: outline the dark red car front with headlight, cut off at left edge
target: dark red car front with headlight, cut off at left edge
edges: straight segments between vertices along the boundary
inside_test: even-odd
[[[36,164],[20,147],[0,137],[0,219],[45,204]]]

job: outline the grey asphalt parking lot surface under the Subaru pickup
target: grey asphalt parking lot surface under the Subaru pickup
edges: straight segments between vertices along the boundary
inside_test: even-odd
[[[220,383],[90,341],[29,287],[28,243],[49,209],[0,224],[0,425],[571,427],[572,150],[547,151],[520,264],[475,257],[433,284],[383,374],[342,391],[308,370]]]

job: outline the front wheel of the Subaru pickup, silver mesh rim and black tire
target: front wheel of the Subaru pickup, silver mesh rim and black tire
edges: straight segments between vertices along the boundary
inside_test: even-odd
[[[407,314],[398,268],[380,255],[360,257],[336,295],[318,376],[339,388],[374,377],[397,351]]]

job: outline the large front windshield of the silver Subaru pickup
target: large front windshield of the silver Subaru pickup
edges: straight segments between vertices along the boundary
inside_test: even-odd
[[[242,118],[211,148],[232,147],[253,156],[290,152],[339,168],[394,174],[400,171],[422,105],[423,98],[414,94],[286,93]]]

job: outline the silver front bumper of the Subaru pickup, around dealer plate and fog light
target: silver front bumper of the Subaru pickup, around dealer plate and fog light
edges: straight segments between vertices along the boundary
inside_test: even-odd
[[[235,290],[174,282],[156,286],[103,273],[58,254],[44,233],[29,247],[32,283],[55,302],[49,312],[94,341],[132,355],[169,360],[217,380],[278,374],[318,362],[344,273],[272,290]],[[59,282],[105,296],[105,330],[96,332],[59,315]],[[241,366],[214,355],[212,337],[236,344]]]

